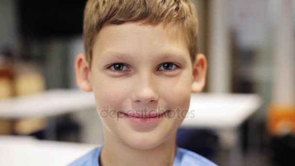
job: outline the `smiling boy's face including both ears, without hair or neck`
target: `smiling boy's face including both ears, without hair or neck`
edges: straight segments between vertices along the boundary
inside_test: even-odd
[[[179,32],[162,24],[108,25],[96,36],[91,69],[85,55],[78,55],[78,85],[94,91],[106,135],[152,149],[176,134],[191,92],[201,91],[206,75],[205,57],[198,55],[192,66]]]

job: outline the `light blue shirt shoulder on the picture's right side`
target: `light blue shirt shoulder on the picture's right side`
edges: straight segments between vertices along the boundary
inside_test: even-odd
[[[178,147],[173,166],[217,166],[217,165],[193,151]]]

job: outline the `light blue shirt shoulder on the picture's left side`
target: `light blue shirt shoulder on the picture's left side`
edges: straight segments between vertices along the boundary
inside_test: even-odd
[[[99,166],[98,157],[100,150],[100,147],[95,148],[84,154],[82,157],[76,159],[68,166]]]

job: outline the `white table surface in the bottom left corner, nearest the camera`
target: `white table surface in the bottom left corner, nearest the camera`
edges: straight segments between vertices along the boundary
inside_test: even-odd
[[[0,135],[0,166],[66,166],[96,147]]]

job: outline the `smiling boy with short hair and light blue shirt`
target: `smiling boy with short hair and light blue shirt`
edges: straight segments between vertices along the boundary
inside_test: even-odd
[[[93,91],[105,143],[72,166],[215,166],[176,146],[205,84],[190,0],[88,0],[78,86]]]

